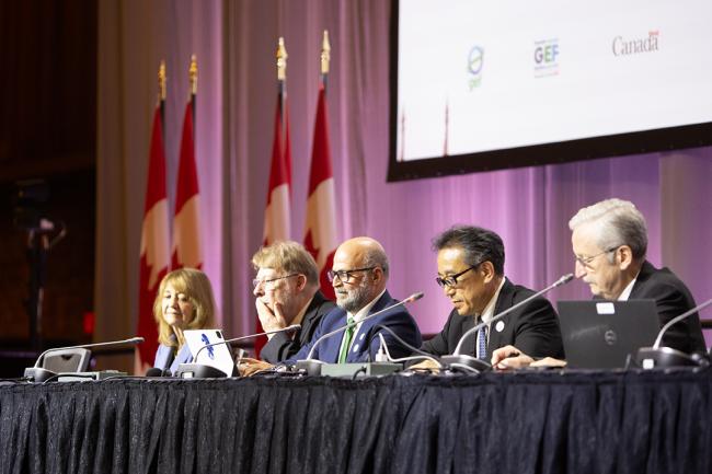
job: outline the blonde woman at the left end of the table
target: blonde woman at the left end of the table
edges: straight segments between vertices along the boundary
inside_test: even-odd
[[[183,331],[210,327],[214,315],[213,287],[203,271],[181,268],[165,275],[153,302],[159,342],[153,367],[174,373],[180,363],[190,362]]]

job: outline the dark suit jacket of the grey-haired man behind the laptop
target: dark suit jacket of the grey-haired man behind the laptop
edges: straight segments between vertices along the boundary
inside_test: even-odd
[[[668,268],[655,268],[647,261],[633,285],[630,298],[653,299],[661,319],[661,327],[675,316],[691,310],[697,304],[685,284]],[[694,313],[670,327],[663,336],[663,346],[687,354],[705,352],[700,316]]]

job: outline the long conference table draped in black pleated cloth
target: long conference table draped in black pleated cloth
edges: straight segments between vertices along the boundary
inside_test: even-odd
[[[1,473],[709,473],[712,370],[0,385]]]

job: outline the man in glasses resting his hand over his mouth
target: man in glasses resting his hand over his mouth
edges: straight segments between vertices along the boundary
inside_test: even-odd
[[[334,309],[319,290],[319,269],[313,257],[297,242],[276,242],[260,248],[252,257],[257,270],[253,280],[255,307],[265,331],[301,324],[295,334],[277,333],[260,354],[277,363],[299,351],[313,336],[324,314]]]

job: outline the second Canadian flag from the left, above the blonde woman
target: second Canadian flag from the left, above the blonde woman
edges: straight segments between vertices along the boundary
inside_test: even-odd
[[[200,226],[198,208],[198,174],[195,165],[193,141],[193,103],[188,101],[183,119],[181,158],[175,192],[175,217],[173,219],[173,250],[171,267],[200,268]]]

